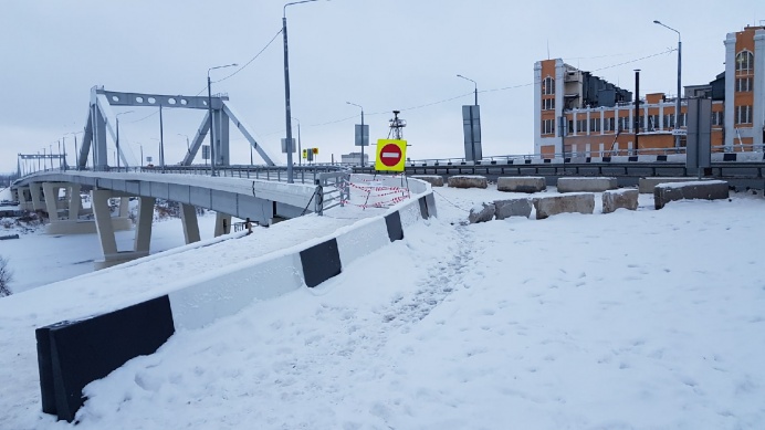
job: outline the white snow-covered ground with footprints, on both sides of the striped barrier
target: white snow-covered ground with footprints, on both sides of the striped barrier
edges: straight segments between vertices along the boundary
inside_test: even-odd
[[[436,193],[438,219],[340,276],[180,331],[91,384],[77,428],[762,428],[762,193],[468,226],[471,207],[517,195]],[[186,263],[196,253],[260,255],[339,221],[0,298],[0,429],[72,427],[40,410],[35,327],[171,289],[147,285],[163,270],[211,270]]]

